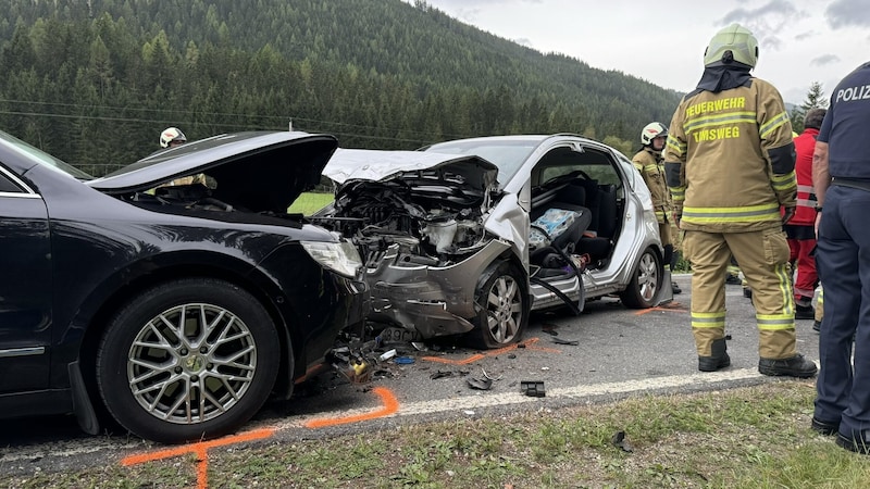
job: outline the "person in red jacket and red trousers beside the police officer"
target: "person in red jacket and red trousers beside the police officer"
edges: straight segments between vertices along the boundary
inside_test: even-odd
[[[812,151],[816,137],[825,114],[824,109],[810,109],[804,116],[804,131],[795,138],[795,175],[797,177],[797,208],[785,225],[791,262],[796,264],[795,319],[813,319],[812,293],[819,284],[816,259],[810,252],[816,248],[816,192],[812,190]]]

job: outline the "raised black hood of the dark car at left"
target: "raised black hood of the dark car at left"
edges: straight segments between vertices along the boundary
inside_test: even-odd
[[[224,134],[158,151],[86,185],[124,195],[204,174],[216,184],[211,190],[216,199],[253,212],[286,212],[300,193],[320,183],[337,147],[328,135]]]

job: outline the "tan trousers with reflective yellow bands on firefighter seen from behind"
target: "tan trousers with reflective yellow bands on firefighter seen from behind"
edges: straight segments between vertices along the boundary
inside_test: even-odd
[[[733,254],[753,289],[758,355],[796,354],[795,303],[785,233],[686,230],[683,252],[692,263],[692,333],[698,356],[710,356],[713,340],[725,335],[725,269]]]

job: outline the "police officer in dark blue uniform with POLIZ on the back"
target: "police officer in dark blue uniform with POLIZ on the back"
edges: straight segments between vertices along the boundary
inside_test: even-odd
[[[825,311],[812,428],[870,453],[870,62],[834,88],[812,156]],[[822,211],[822,206],[824,210]],[[853,347],[853,335],[855,336]]]

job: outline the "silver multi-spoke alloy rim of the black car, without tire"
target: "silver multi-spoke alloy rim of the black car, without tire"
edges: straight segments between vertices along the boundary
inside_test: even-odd
[[[127,356],[127,380],[150,415],[196,424],[221,416],[248,391],[257,348],[248,326],[207,303],[171,308],[147,322]]]

